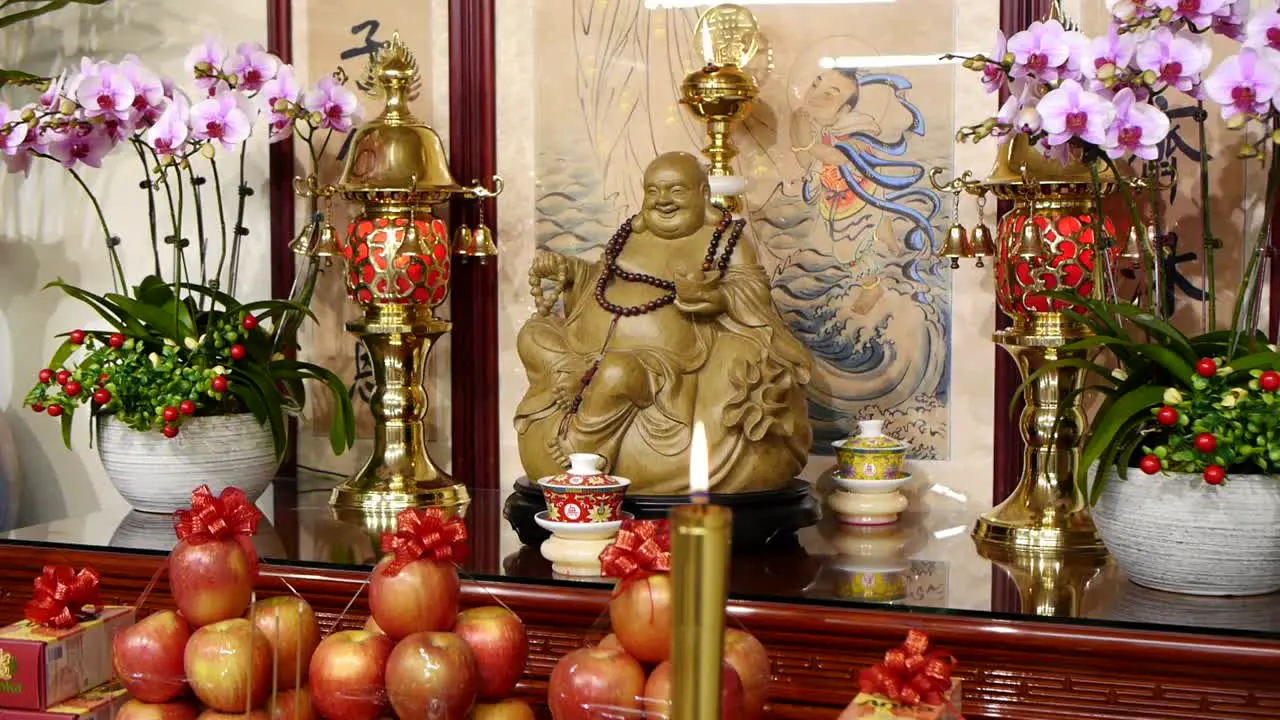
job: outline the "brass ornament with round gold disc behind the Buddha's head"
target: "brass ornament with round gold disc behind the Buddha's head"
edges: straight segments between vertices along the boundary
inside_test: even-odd
[[[737,213],[746,179],[733,172],[732,133],[760,94],[755,77],[742,69],[759,51],[760,28],[746,8],[717,5],[703,13],[695,32],[705,64],[685,77],[680,102],[707,123],[703,155],[710,161],[712,202]]]

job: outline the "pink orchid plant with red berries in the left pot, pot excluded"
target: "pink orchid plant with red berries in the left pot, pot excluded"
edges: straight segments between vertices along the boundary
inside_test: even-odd
[[[132,55],[118,63],[86,58],[33,102],[0,104],[5,165],[26,174],[47,161],[70,174],[93,208],[113,282],[102,295],[50,283],[110,328],[65,333],[26,404],[61,418],[68,442],[73,411],[83,405],[166,437],[191,416],[250,411],[283,451],[283,414],[301,407],[302,380],[315,379],[334,396],[330,439],[340,452],[355,441],[344,383],[284,356],[293,340],[283,331],[310,315],[310,297],[242,304],[236,293],[255,193],[246,181],[250,142],[296,135],[315,163],[335,133],[353,127],[356,96],[340,76],[303,90],[291,65],[256,44],[228,51],[210,38],[186,56],[186,72],[189,90]],[[151,268],[134,286],[120,261],[122,238],[83,177],[122,149],[137,158],[150,218]],[[232,178],[234,190],[224,192]],[[316,272],[319,265],[308,269]]]

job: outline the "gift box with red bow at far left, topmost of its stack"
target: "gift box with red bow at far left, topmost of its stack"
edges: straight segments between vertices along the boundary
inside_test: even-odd
[[[64,565],[36,578],[27,619],[0,629],[0,707],[45,710],[111,679],[111,639],[134,611],[105,606],[100,580]]]

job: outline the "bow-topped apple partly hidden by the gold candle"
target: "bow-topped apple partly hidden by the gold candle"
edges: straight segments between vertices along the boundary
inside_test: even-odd
[[[600,573],[618,578],[609,624],[618,643],[641,662],[671,655],[671,528],[666,520],[625,520],[600,553]]]

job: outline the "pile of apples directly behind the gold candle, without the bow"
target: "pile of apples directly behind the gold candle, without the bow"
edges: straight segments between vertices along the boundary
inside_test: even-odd
[[[620,585],[609,601],[613,634],[556,664],[547,693],[552,717],[588,720],[602,717],[602,712],[631,717],[643,711],[646,719],[669,720],[671,596],[671,577],[664,573]],[[724,720],[764,716],[769,674],[769,656],[760,641],[727,629],[721,682]]]

